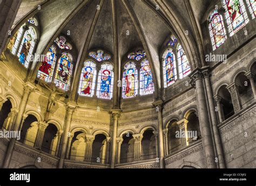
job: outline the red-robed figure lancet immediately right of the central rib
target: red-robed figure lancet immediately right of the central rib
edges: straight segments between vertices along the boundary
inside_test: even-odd
[[[123,74],[123,98],[135,97],[138,91],[138,72],[134,62],[128,62],[124,66]]]

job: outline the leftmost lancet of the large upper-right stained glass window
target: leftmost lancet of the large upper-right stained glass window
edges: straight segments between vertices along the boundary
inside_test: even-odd
[[[209,31],[213,51],[227,39],[223,18],[217,10],[214,10],[209,17]]]

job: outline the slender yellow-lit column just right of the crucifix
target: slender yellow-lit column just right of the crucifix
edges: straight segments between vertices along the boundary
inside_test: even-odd
[[[63,168],[64,165],[64,159],[66,157],[66,148],[68,146],[68,139],[69,139],[69,131],[70,131],[70,125],[71,125],[71,119],[73,112],[75,111],[76,105],[68,103],[66,106],[66,120],[64,125],[64,133],[63,133],[63,140],[62,144],[60,145],[60,159],[58,168]]]

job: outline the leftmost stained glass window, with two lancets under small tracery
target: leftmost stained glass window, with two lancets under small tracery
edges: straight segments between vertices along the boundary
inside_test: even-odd
[[[32,17],[24,23],[12,36],[7,48],[14,55],[18,56],[19,62],[26,68],[29,66],[33,51],[35,50],[38,21]]]

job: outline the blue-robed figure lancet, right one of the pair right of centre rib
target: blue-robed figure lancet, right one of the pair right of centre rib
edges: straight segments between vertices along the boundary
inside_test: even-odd
[[[152,73],[149,65],[149,61],[144,60],[140,64],[140,78],[139,78],[139,89],[140,95],[153,94],[154,92],[154,84]]]

